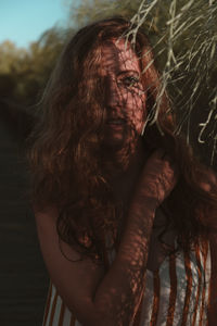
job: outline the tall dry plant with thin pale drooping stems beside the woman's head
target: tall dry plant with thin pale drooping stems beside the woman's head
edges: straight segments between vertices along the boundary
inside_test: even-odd
[[[92,21],[124,15],[144,27],[178,117],[176,133],[217,167],[217,2],[215,0],[85,0],[71,3],[71,22],[80,28]],[[132,38],[133,40],[133,38]],[[155,108],[153,123],[156,122]]]

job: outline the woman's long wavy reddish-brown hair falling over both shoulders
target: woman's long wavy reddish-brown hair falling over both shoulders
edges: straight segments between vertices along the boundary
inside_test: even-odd
[[[118,246],[124,216],[124,205],[115,200],[101,164],[104,88],[98,74],[100,47],[119,37],[132,41],[131,27],[123,17],[114,17],[88,25],[71,39],[44,91],[30,138],[35,210],[55,205],[60,240],[94,262],[101,262],[108,250],[104,246],[107,231],[113,235],[112,247]],[[173,104],[166,91],[162,92],[152,49],[141,28],[132,47],[143,72],[146,110],[156,118],[145,127],[144,147],[150,151],[164,148],[178,164],[178,184],[162,206],[177,230],[179,246],[188,251],[206,236],[207,212],[217,205],[217,191],[215,187],[208,192],[202,189],[199,180],[206,176],[206,168],[183,138],[175,135]]]

